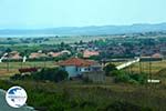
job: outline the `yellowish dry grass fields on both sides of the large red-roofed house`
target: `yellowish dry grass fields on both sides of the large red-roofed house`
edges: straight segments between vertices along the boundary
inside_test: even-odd
[[[115,65],[120,65],[124,62],[113,62]],[[25,62],[25,63],[21,63],[21,62],[9,62],[9,64],[7,62],[2,62],[0,63],[0,78],[8,78],[9,75],[12,75],[14,73],[18,73],[18,69],[20,68],[51,68],[51,67],[55,67],[55,62],[54,61],[39,61],[39,62]],[[166,60],[163,61],[155,61],[152,62],[152,73],[156,74],[159,70],[165,69],[166,68]],[[9,70],[8,70],[9,69]],[[149,73],[149,62],[141,62],[141,63],[135,63],[128,68],[125,69],[128,72],[137,72],[139,73],[145,72],[145,73]]]

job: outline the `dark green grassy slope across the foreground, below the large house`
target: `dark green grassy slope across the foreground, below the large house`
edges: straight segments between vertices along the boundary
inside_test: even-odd
[[[166,110],[166,94],[163,84],[137,85],[124,83],[85,84],[82,82],[32,82],[32,81],[0,81],[0,88],[9,85],[23,87],[29,95],[28,104],[46,109],[46,111],[102,111],[114,101],[148,107],[154,111]]]

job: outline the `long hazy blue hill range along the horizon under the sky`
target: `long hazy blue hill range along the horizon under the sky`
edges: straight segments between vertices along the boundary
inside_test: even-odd
[[[149,31],[166,31],[166,23],[133,24],[133,26],[101,26],[101,27],[62,27],[48,29],[1,29],[0,36],[98,36],[122,34]]]

